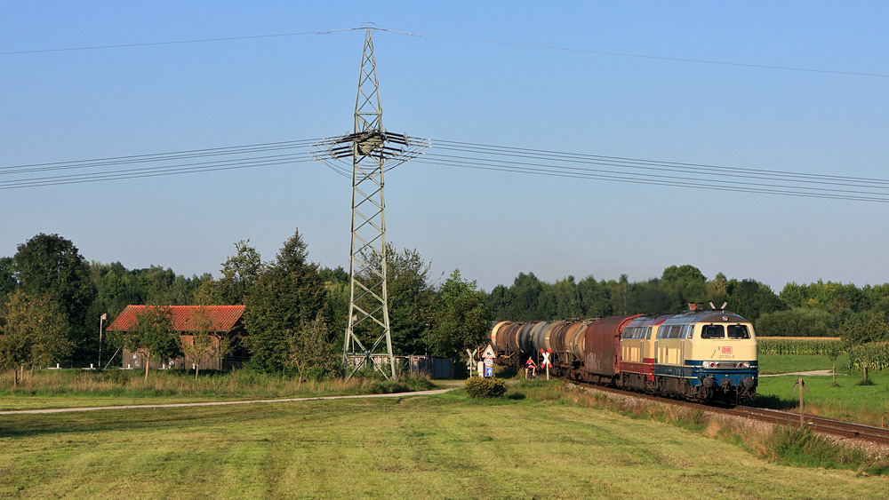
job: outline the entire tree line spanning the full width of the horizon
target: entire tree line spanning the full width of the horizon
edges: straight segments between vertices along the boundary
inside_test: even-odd
[[[110,321],[128,305],[244,305],[247,334],[239,340],[251,353],[247,368],[300,377],[337,371],[348,314],[348,272],[309,261],[299,230],[268,261],[249,240],[236,242],[235,248],[221,264],[219,278],[209,273],[187,278],[169,267],[127,269],[119,261],[87,261],[59,234],[36,234],[18,245],[15,255],[0,258],[0,368],[53,359],[89,366],[98,352],[100,315],[107,313]],[[684,264],[640,282],[629,282],[627,274],[617,280],[590,275],[578,281],[569,275],[544,282],[522,272],[509,286],[486,292],[459,269],[434,284],[430,268],[418,250],[388,245],[390,327],[398,355],[457,360],[464,347],[484,343],[491,321],[681,313],[688,303],[709,302],[727,303],[726,309],[754,323],[759,336],[843,337],[850,345],[889,340],[889,283],[859,288],[821,280],[789,282],[775,293],[752,278],[718,273],[708,279]],[[371,329],[357,333],[376,334]],[[112,341],[124,345],[121,339]],[[171,349],[164,355],[181,353],[181,347]],[[324,355],[308,357],[309,351]]]

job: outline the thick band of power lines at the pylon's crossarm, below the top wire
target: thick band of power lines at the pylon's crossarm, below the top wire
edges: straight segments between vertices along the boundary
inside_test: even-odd
[[[327,151],[338,144],[338,139],[303,139],[153,155],[0,166],[0,190],[291,165],[318,159],[337,175],[351,179],[352,171],[345,163],[327,160],[319,154],[319,151]],[[397,158],[385,171],[400,164],[416,163],[661,187],[889,202],[889,179],[590,155],[445,139],[411,139],[411,145],[408,147],[410,154]]]

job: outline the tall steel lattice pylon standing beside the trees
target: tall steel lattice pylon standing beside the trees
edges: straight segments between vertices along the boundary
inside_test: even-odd
[[[352,240],[348,269],[348,326],[342,357],[344,377],[351,377],[368,362],[384,377],[395,377],[388,317],[383,173],[419,155],[422,147],[428,147],[428,140],[411,140],[404,134],[394,134],[382,128],[380,86],[371,29],[367,28],[364,36],[355,130],[348,135],[322,140],[317,146],[323,147],[324,151],[316,154],[333,171],[342,174],[346,173],[345,169],[328,160],[344,162],[351,158],[352,163]],[[367,345],[359,337],[364,337]],[[370,339],[375,340],[370,343]],[[380,356],[383,353],[388,358],[388,374],[382,369],[382,363],[373,362],[374,354]]]

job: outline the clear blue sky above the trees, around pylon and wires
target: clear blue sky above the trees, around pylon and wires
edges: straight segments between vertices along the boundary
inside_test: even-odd
[[[873,2],[4,2],[0,52],[380,28],[686,60],[889,74]],[[362,32],[0,55],[0,166],[350,131]],[[889,78],[375,32],[390,131],[510,147],[889,179]],[[388,240],[490,290],[519,272],[630,281],[691,264],[776,291],[889,282],[886,203],[407,163]],[[0,256],[37,233],[130,268],[219,274],[299,227],[348,266],[350,185],[320,163],[0,191]]]

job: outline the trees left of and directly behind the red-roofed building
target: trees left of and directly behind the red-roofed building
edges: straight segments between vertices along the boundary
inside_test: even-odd
[[[210,274],[185,278],[156,266],[128,270],[119,262],[90,263],[58,234],[37,234],[17,250],[0,258],[5,365],[89,364],[99,350],[102,314],[114,318],[129,304],[194,304],[204,282],[211,281]]]

